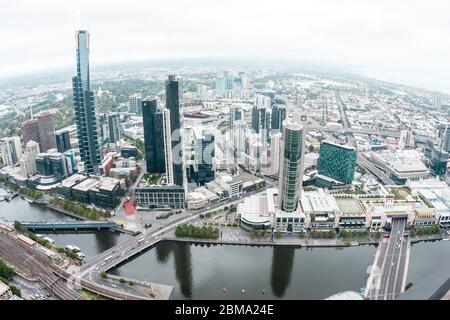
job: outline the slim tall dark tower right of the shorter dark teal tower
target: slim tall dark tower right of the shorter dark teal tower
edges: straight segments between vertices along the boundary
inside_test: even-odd
[[[183,185],[183,154],[180,124],[180,82],[174,75],[166,81],[166,107],[170,111],[170,128],[172,129],[172,159],[174,184]]]

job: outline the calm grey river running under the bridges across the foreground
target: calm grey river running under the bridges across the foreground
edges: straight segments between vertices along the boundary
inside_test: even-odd
[[[0,203],[0,218],[73,220],[20,197]],[[48,236],[61,247],[79,246],[88,258],[130,237],[109,231]],[[172,299],[324,299],[364,287],[375,252],[374,246],[311,250],[162,242],[111,273],[171,284]],[[413,245],[408,272],[413,287],[403,298],[427,299],[450,277],[449,266],[450,241]]]

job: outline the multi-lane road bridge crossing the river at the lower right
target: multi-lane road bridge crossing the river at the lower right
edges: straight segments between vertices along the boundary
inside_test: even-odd
[[[405,290],[410,249],[405,228],[406,218],[393,218],[389,239],[384,238],[379,245],[367,285],[370,300],[395,300]]]

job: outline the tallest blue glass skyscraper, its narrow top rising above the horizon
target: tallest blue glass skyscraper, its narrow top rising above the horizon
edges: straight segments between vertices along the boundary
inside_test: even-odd
[[[98,174],[102,161],[94,92],[89,75],[89,32],[77,31],[77,75],[73,77],[73,100],[81,161],[88,174]]]

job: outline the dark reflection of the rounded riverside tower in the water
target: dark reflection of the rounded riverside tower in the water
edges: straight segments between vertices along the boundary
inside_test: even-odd
[[[282,298],[291,282],[295,248],[274,247],[270,284],[273,294]]]

